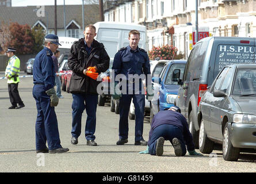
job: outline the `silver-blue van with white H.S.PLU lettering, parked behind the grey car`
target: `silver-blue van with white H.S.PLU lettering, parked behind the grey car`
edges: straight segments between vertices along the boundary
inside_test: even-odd
[[[187,118],[196,148],[201,123],[197,114],[202,94],[224,66],[255,63],[255,41],[250,37],[206,37],[194,45],[182,79],[179,79],[179,71],[174,70],[173,80],[178,80],[180,85],[174,105],[179,106]]]

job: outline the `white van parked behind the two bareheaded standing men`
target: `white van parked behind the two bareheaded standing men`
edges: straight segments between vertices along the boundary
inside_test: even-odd
[[[103,43],[108,52],[110,60],[113,61],[114,55],[122,47],[129,45],[129,32],[132,29],[139,30],[140,42],[139,47],[147,51],[147,28],[139,24],[122,24],[121,22],[97,22],[94,24],[97,35],[95,40]]]

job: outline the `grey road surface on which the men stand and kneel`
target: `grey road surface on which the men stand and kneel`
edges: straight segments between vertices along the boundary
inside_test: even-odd
[[[4,72],[0,72],[0,77]],[[25,75],[22,74],[21,75]],[[173,147],[165,141],[163,156],[139,154],[146,146],[134,145],[135,121],[129,120],[129,137],[125,145],[118,140],[119,114],[110,112],[110,104],[98,106],[95,141],[97,147],[86,145],[83,135],[86,112],[82,117],[82,134],[72,145],[72,96],[62,91],[63,99],[55,108],[60,140],[70,151],[63,154],[36,154],[36,103],[32,97],[32,78],[22,78],[18,89],[25,108],[10,106],[6,79],[0,80],[0,172],[14,173],[255,173],[256,155],[241,154],[238,162],[227,162],[221,150],[204,156],[174,155]],[[149,117],[145,117],[143,136],[148,140]],[[199,152],[199,150],[196,150]],[[109,174],[110,175],[110,174]],[[104,178],[100,178],[102,181]],[[106,179],[106,178],[105,178]],[[113,178],[112,178],[113,179]],[[127,178],[126,178],[127,179]]]

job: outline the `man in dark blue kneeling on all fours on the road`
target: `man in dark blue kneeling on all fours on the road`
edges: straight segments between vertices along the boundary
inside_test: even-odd
[[[189,155],[202,156],[194,150],[188,122],[177,106],[171,106],[171,108],[155,114],[149,134],[147,150],[140,152],[140,154],[162,156],[163,143],[165,140],[169,140],[174,147],[176,156],[186,155],[186,146]]]

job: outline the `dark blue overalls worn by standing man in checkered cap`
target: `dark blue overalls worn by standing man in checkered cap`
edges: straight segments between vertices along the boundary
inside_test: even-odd
[[[36,100],[36,150],[61,148],[58,121],[51,99],[45,91],[55,85],[55,70],[52,52],[44,47],[35,57],[33,64],[33,97]]]

